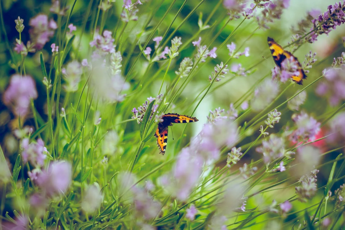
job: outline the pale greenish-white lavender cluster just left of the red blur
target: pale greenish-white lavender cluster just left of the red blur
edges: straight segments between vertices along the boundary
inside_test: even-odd
[[[269,140],[263,141],[262,146],[256,148],[256,152],[263,154],[265,164],[269,164],[283,156],[290,158],[290,155],[295,154],[292,151],[287,151],[283,138],[275,134],[269,135]]]

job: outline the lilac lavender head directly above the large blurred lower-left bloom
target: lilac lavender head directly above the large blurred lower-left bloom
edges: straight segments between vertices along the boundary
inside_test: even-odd
[[[29,144],[29,138],[24,138],[21,142],[23,163],[30,162],[32,165],[40,167],[43,166],[44,160],[47,157],[47,148],[41,138],[37,142]]]

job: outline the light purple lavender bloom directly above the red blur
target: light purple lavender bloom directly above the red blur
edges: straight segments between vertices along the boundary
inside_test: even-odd
[[[291,136],[293,141],[299,141],[301,139],[304,140],[306,138],[313,141],[315,139],[315,135],[320,131],[321,123],[317,122],[313,117],[304,112],[299,115],[295,115],[293,117],[293,121],[297,127]]]

